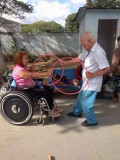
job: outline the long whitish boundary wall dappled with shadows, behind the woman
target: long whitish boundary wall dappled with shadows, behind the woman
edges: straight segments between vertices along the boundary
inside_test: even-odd
[[[12,36],[17,40],[18,48],[27,48],[32,54],[78,55],[79,33],[4,34],[1,36],[1,44],[6,54],[12,54]]]

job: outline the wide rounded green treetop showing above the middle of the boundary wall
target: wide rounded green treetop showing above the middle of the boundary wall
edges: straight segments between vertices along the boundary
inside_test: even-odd
[[[50,22],[39,21],[32,24],[22,25],[21,32],[32,32],[32,33],[64,32],[64,27],[54,21],[50,21]]]

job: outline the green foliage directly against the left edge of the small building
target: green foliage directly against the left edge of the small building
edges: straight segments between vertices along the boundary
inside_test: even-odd
[[[65,24],[65,30],[66,32],[79,32],[79,23],[74,22],[74,18],[76,16],[76,13],[70,14],[66,18],[66,24]]]

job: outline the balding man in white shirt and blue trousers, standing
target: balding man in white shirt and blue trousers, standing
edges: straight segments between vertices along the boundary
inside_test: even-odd
[[[80,60],[84,63],[83,90],[78,94],[73,111],[68,113],[68,116],[80,118],[83,112],[86,120],[81,125],[89,127],[98,124],[94,103],[97,93],[101,90],[103,75],[110,71],[110,67],[105,51],[96,42],[91,32],[83,33],[80,42],[85,49],[80,55]]]

